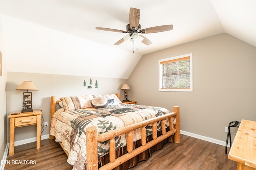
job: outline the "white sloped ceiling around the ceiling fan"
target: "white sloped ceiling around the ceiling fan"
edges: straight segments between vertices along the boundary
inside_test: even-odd
[[[114,45],[126,30],[130,7],[152,45]],[[7,71],[128,78],[142,57],[219,33],[256,46],[255,0],[0,0]],[[138,47],[138,51],[136,48]],[[133,49],[135,49],[133,53]]]

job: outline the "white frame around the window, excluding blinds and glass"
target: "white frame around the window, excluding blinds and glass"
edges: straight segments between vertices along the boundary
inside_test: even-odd
[[[184,57],[190,57],[190,88],[189,89],[172,89],[172,88],[162,88],[162,66],[161,62],[168,61],[168,60],[174,60],[174,59],[180,59]],[[158,68],[159,68],[159,91],[169,91],[169,92],[193,92],[193,53],[186,54],[186,55],[179,55],[176,57],[170,57],[168,59],[161,59],[158,61]]]

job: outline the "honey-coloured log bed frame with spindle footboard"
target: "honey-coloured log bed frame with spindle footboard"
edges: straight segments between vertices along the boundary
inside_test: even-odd
[[[116,94],[118,98],[120,98],[120,94]],[[56,104],[58,104],[60,100],[56,101],[56,97],[51,97],[51,104],[50,104],[50,124],[52,115],[56,112]],[[173,117],[176,118],[176,124],[170,126],[170,131],[166,132],[165,128],[165,119],[168,119],[170,125],[173,124]],[[156,124],[158,121],[162,123],[162,135],[157,136],[157,127]],[[149,124],[153,124],[152,126],[152,137],[153,140],[150,142],[146,142],[146,126]],[[164,128],[163,128],[164,127]],[[141,142],[142,146],[133,150],[132,147],[132,131],[135,129],[141,129]],[[115,137],[119,135],[126,134],[127,140],[127,150],[128,153],[116,158],[116,141]],[[180,107],[174,106],[174,112],[168,113],[166,115],[153,117],[148,120],[144,120],[138,123],[134,123],[132,125],[128,125],[126,127],[121,127],[112,131],[108,131],[106,133],[102,133],[98,135],[97,127],[88,127],[86,129],[86,169],[87,170],[98,170],[98,142],[104,142],[109,140],[109,154],[110,154],[110,162],[105,164],[104,166],[100,167],[100,170],[110,170],[115,168],[116,166],[126,162],[127,160],[133,158],[134,156],[144,152],[145,150],[149,149],[150,147],[156,145],[157,143],[163,141],[164,139],[170,137],[174,134],[174,142],[180,143]],[[55,139],[54,136],[49,137],[50,140]],[[68,152],[64,149],[64,146],[61,142],[60,146],[64,150],[64,152],[68,154]]]

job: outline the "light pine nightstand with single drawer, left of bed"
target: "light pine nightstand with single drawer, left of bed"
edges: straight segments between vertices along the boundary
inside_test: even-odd
[[[14,114],[19,113],[19,114]],[[10,146],[9,156],[14,155],[14,129],[15,127],[36,125],[36,149],[41,147],[41,110],[33,110],[31,112],[12,111],[10,118]]]

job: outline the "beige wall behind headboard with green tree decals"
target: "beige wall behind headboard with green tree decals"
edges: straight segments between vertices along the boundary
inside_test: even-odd
[[[89,84],[90,78],[92,78],[92,85]],[[127,83],[127,79],[118,78],[7,72],[8,113],[22,109],[22,92],[26,91],[15,89],[24,80],[32,81],[38,88],[38,91],[29,91],[32,92],[32,109],[41,109],[43,112],[44,122],[47,121],[48,125],[50,123],[50,96],[56,96],[56,99],[58,99],[64,96],[120,93],[120,100],[123,100],[124,94],[120,88],[123,84]],[[86,80],[86,87],[83,86],[84,80]],[[95,88],[96,80],[98,82],[98,88]],[[92,86],[92,88],[87,88],[88,86]],[[9,129],[9,119],[7,128]],[[44,128],[42,135],[48,134],[49,126]],[[36,125],[19,127],[15,129],[15,141],[30,139],[33,137],[36,137]]]

